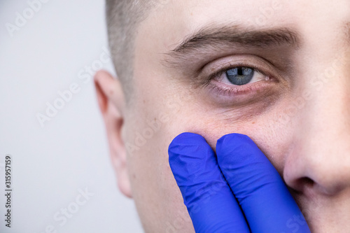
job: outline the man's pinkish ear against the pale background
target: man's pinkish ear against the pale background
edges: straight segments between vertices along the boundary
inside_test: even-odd
[[[127,170],[127,153],[122,136],[125,106],[123,89],[120,81],[106,71],[98,71],[95,74],[94,85],[106,125],[111,161],[116,171],[119,189],[125,196],[132,197]]]

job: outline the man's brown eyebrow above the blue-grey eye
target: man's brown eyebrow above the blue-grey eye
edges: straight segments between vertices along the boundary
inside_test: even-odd
[[[300,36],[287,28],[248,29],[240,25],[215,27],[209,25],[188,36],[168,55],[178,57],[202,48],[271,48],[272,46],[290,45],[295,49],[300,46]]]

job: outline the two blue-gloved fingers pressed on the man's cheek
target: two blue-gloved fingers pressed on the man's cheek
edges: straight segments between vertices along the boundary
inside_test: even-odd
[[[215,154],[202,136],[180,134],[169,164],[196,232],[310,232],[281,176],[246,135],[223,136]]]

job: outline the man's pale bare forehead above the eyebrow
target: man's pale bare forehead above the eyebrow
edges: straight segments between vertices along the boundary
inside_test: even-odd
[[[136,45],[148,43],[153,49],[169,50],[202,27],[216,24],[251,29],[287,27],[327,41],[335,36],[344,38],[349,22],[349,0],[162,0],[141,23]],[[349,32],[347,35],[349,38]]]

